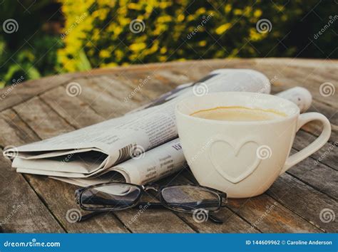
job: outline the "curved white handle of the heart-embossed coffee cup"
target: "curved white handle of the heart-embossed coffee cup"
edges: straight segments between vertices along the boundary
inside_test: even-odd
[[[317,152],[317,150],[320,149],[323,145],[325,145],[327,143],[327,140],[329,140],[329,137],[331,135],[331,125],[329,123],[329,120],[327,120],[327,117],[324,117],[324,115],[319,114],[317,112],[308,112],[299,115],[297,122],[297,131],[303,125],[307,124],[307,122],[311,122],[313,120],[319,120],[320,122],[322,122],[323,124],[322,133],[309,146],[299,150],[299,152],[288,157],[280,174],[286,172],[288,169],[293,167],[295,164],[301,162],[303,159],[306,159],[307,157],[309,157],[309,155],[313,154],[314,152]]]

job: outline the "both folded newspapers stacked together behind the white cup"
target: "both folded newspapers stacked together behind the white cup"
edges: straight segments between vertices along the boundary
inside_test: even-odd
[[[48,175],[86,186],[121,180],[146,184],[178,172],[186,162],[175,124],[175,104],[190,95],[245,91],[270,93],[270,80],[250,69],[219,69],[195,83],[178,86],[128,114],[34,142],[4,154],[17,172]],[[277,94],[303,112],[312,97],[304,88]]]

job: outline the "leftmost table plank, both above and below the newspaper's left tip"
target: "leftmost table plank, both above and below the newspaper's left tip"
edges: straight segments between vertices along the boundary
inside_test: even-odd
[[[31,130],[22,130],[21,124],[11,120],[13,111],[0,114],[0,144],[21,145],[32,139]],[[16,125],[15,127],[12,127]],[[14,141],[17,140],[17,141]],[[2,152],[2,149],[1,149]],[[5,232],[64,232],[50,211],[43,205],[26,179],[11,169],[11,162],[0,156],[0,222]]]

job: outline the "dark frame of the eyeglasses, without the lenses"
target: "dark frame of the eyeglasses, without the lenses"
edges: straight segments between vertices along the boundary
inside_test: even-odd
[[[94,187],[103,187],[103,186],[108,186],[108,185],[112,185],[112,184],[130,186],[130,187],[131,186],[137,187],[140,190],[140,193],[137,196],[137,198],[134,200],[135,203],[130,205],[130,206],[126,206],[126,207],[118,208],[118,209],[113,209],[113,208],[95,209],[95,208],[83,206],[82,200],[81,200],[83,191],[86,191],[87,189],[91,189],[91,188],[94,188]],[[193,214],[196,211],[196,209],[198,209],[198,208],[196,208],[196,209],[189,211],[189,210],[175,209],[174,207],[169,206],[167,204],[167,201],[165,201],[165,199],[163,198],[163,195],[162,195],[162,190],[165,189],[165,188],[168,188],[168,187],[198,187],[198,188],[202,188],[202,189],[208,189],[209,191],[212,191],[215,194],[217,194],[218,201],[219,201],[217,209],[216,210],[207,210],[208,214],[217,213],[218,211],[220,211],[220,208],[225,206],[225,203],[227,203],[227,194],[224,191],[220,191],[220,190],[217,190],[217,189],[213,189],[213,188],[210,188],[210,187],[204,187],[204,186],[200,186],[200,185],[196,185],[196,184],[170,184],[170,185],[167,185],[167,186],[160,186],[158,184],[138,185],[138,184],[124,183],[124,182],[107,182],[107,183],[101,183],[101,184],[93,184],[93,185],[88,186],[88,187],[83,187],[81,189],[77,189],[75,191],[75,199],[76,199],[76,203],[81,207],[81,209],[86,210],[86,211],[96,211],[96,212],[121,211],[121,210],[125,210],[125,209],[132,209],[133,207],[141,205],[141,204],[150,204],[152,206],[164,206],[165,208],[173,210],[173,211],[179,211],[179,212],[190,213],[190,214]],[[148,189],[153,189],[156,192],[159,192],[160,202],[140,202],[141,196]],[[223,201],[223,199],[225,199],[225,201]]]

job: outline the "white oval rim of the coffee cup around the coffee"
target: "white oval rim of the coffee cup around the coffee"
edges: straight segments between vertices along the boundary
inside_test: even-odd
[[[226,120],[213,120],[213,119],[206,119],[206,118],[200,118],[200,117],[194,117],[193,115],[188,115],[185,112],[182,112],[180,110],[180,106],[183,103],[186,103],[187,100],[205,100],[206,98],[212,98],[212,97],[218,97],[222,95],[231,95],[232,97],[234,95],[246,95],[246,96],[255,96],[258,95],[257,99],[262,99],[262,97],[268,97],[268,98],[273,98],[276,99],[277,101],[280,100],[283,103],[287,103],[288,105],[291,105],[292,107],[295,108],[294,112],[292,114],[288,114],[286,117],[277,117],[272,120],[265,120],[265,121],[226,121]],[[277,123],[277,122],[283,122],[286,120],[292,120],[295,117],[299,116],[300,110],[299,107],[295,104],[292,103],[290,100],[287,100],[285,98],[280,98],[276,95],[270,95],[270,94],[265,94],[265,93],[254,93],[254,92],[217,92],[217,93],[209,93],[207,95],[203,96],[189,96],[187,98],[183,98],[183,100],[180,100],[176,105],[175,105],[175,113],[182,115],[183,117],[187,117],[193,120],[198,120],[201,122],[217,122],[218,124],[225,124],[225,125],[267,125],[267,124],[272,124],[272,123]]]

